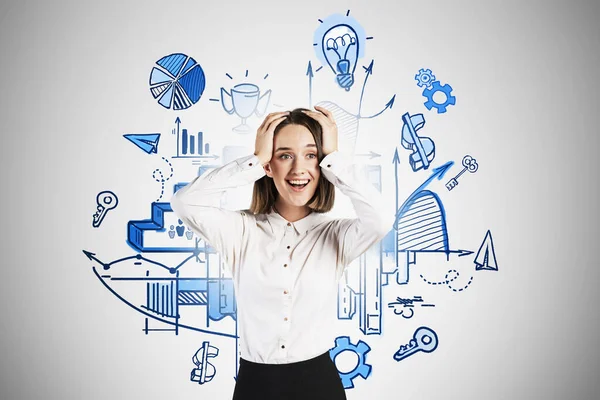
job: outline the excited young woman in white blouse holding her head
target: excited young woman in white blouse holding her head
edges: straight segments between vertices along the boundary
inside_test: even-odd
[[[254,154],[203,174],[171,201],[233,277],[240,338],[234,400],[346,398],[329,357],[338,281],[390,231],[394,214],[337,150],[331,112],[315,109],[269,114]],[[253,182],[249,210],[218,207],[225,190]],[[357,218],[327,217],[335,187]]]

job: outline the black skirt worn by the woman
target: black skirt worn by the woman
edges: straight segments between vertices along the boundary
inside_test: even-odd
[[[240,359],[233,400],[346,400],[329,352],[290,364]]]

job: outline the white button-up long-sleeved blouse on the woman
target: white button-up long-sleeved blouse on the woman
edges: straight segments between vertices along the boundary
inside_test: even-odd
[[[392,229],[394,214],[384,212],[381,194],[359,165],[339,151],[319,165],[321,174],[350,197],[357,218],[312,212],[288,222],[276,212],[254,215],[215,206],[225,190],[265,175],[255,155],[197,177],[171,200],[173,211],[229,268],[245,360],[285,364],[332,348],[344,269]]]

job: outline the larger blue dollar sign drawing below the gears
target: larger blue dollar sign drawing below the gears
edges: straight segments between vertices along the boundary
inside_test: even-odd
[[[412,150],[409,156],[409,163],[413,171],[421,168],[427,169],[431,161],[435,158],[435,143],[426,136],[417,135],[417,131],[425,125],[423,114],[411,116],[405,113],[402,116],[404,125],[402,126],[402,147]]]

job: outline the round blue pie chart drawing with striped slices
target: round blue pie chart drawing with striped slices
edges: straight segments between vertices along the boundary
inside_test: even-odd
[[[200,64],[182,53],[165,56],[150,73],[150,93],[158,104],[173,110],[185,110],[196,104],[206,85]]]

